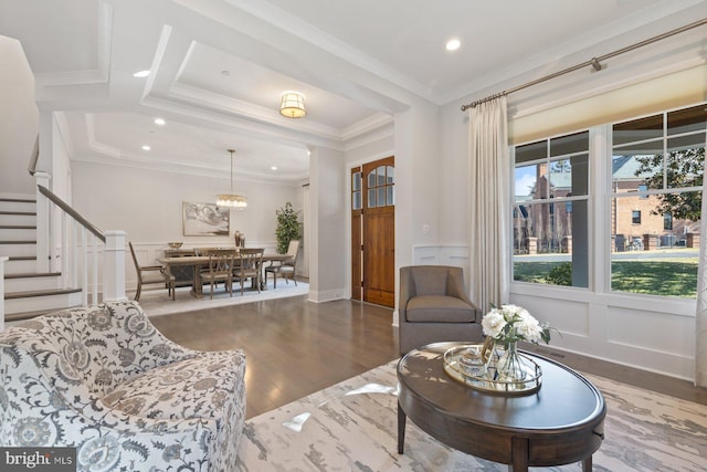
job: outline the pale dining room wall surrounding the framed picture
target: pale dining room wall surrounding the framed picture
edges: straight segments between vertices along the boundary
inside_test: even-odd
[[[215,195],[229,187],[223,179],[152,171],[112,165],[73,161],[73,206],[101,230],[124,230],[144,264],[163,255],[169,241],[184,248],[232,245],[233,233],[245,233],[247,247],[275,252],[275,211],[291,201],[302,209],[302,190],[296,183],[245,182],[234,188],[246,195],[245,210],[231,210],[229,237],[184,237],[182,202],[215,202]],[[135,286],[135,268],[126,253],[126,287]]]

